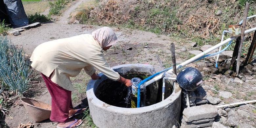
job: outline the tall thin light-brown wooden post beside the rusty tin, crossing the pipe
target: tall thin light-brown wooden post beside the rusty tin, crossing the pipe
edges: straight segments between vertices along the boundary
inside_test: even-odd
[[[244,12],[242,31],[241,31],[241,42],[239,44],[239,50],[238,50],[237,62],[236,62],[236,76],[238,76],[238,73],[239,73],[240,58],[241,58],[241,53],[242,53],[243,42],[245,40],[246,18],[247,18],[247,14],[249,11],[249,5],[250,5],[249,3],[246,3],[246,5],[245,5],[245,12]]]

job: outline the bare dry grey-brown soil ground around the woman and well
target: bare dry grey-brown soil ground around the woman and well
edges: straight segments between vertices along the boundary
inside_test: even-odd
[[[62,16],[57,17],[56,22],[42,23],[40,27],[31,28],[21,32],[21,35],[18,36],[8,35],[8,38],[10,38],[11,42],[17,47],[22,47],[26,54],[30,56],[35,47],[41,43],[60,38],[72,37],[79,34],[91,33],[100,28],[100,26],[67,24],[67,18],[69,17],[71,11],[74,10],[80,3],[87,1],[88,0],[74,1],[72,4],[70,4],[70,8],[68,8]],[[126,28],[113,27],[113,30],[116,32],[119,42],[106,52],[105,58],[110,66],[129,63],[147,63],[153,65],[156,71],[160,71],[162,70],[162,67],[159,64],[156,55],[159,55],[160,60],[163,62],[165,67],[169,67],[171,62],[171,52],[169,47],[171,43],[175,44],[176,50],[179,50],[182,47],[185,47],[187,50],[200,49],[200,47],[191,47],[189,42],[183,43],[178,40],[173,40],[173,37],[166,35],[157,35],[152,32],[144,32]],[[130,47],[132,47],[132,49],[127,50]],[[191,57],[188,52],[177,52],[176,55],[177,63],[181,63]],[[73,106],[77,108],[87,106],[86,85],[90,80],[90,77],[82,71],[77,77],[71,78],[71,80],[75,86],[75,91],[72,94]],[[253,80],[255,80],[255,78],[253,78]],[[226,85],[222,85],[221,81],[218,82],[221,86],[220,90],[224,91]],[[40,74],[36,71],[34,71],[32,74],[31,84],[32,87],[31,90],[27,92],[27,97],[51,104],[51,96]],[[214,85],[218,83],[214,80],[211,81],[211,79],[208,79],[205,84]],[[244,85],[249,87],[247,89],[241,88],[241,85],[236,88],[234,85],[232,88],[228,88],[228,91],[235,93],[238,90],[242,90],[244,92],[243,95],[239,95],[237,92],[238,96],[236,96],[237,98],[242,99],[242,96],[247,96],[246,93],[250,92],[251,89],[255,87],[255,82],[254,84],[245,82]],[[218,97],[218,95],[213,94],[211,90],[206,90],[212,95]],[[256,93],[254,90],[254,95],[247,96],[246,100],[255,99],[255,94]],[[233,101],[230,101],[230,99],[224,99],[223,102],[227,103]],[[244,109],[248,110],[250,114],[255,116],[255,113],[252,112],[252,108],[244,107]],[[29,121],[35,123],[28,115],[24,106],[18,100],[16,104],[11,107],[10,111],[11,113],[5,117],[5,122],[10,128],[16,128],[19,124],[28,123]],[[83,121],[84,123],[80,126],[80,128],[91,127],[88,120],[83,119]],[[50,128],[53,127],[53,125],[56,126],[56,124],[52,123],[50,120],[45,120],[35,124],[35,127],[41,128]]]

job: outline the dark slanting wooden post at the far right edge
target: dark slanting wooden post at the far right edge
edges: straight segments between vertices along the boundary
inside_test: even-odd
[[[255,51],[255,47],[256,47],[256,31],[254,31],[252,41],[251,41],[251,45],[250,45],[248,53],[246,55],[244,65],[247,65],[248,63],[251,63],[251,59],[252,59],[253,53]]]

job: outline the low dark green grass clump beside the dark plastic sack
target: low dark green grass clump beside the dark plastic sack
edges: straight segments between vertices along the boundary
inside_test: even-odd
[[[30,14],[28,16],[29,18],[29,23],[34,23],[34,22],[46,22],[46,21],[50,21],[51,17],[48,15],[41,15],[39,13],[35,13],[35,14]]]

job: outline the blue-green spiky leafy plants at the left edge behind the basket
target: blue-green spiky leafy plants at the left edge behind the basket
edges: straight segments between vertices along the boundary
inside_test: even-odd
[[[22,49],[17,49],[11,42],[0,36],[0,79],[8,89],[25,93],[30,85],[29,75],[32,72],[30,62]],[[2,85],[3,85],[2,83]]]

